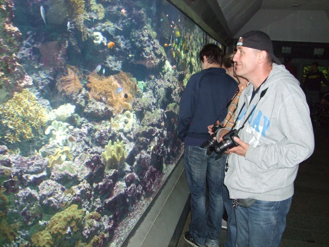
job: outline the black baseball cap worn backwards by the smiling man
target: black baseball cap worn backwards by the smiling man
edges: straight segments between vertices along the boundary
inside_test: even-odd
[[[257,50],[265,50],[268,52],[269,56],[277,64],[281,64],[281,61],[273,54],[273,45],[271,38],[262,31],[252,30],[243,34],[236,46],[242,45],[244,47],[249,47]]]

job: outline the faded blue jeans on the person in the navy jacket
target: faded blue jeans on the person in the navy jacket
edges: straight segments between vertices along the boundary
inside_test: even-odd
[[[185,146],[184,165],[191,192],[190,233],[200,246],[212,240],[220,242],[223,217],[223,156],[215,160],[216,153],[207,155],[207,149]],[[206,187],[209,205],[206,208]]]

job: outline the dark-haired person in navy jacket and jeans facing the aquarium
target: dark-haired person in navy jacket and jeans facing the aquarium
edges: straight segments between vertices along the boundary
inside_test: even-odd
[[[215,44],[199,54],[202,71],[191,76],[180,99],[178,136],[185,143],[184,163],[191,192],[191,223],[185,240],[192,246],[218,246],[223,216],[222,158],[200,148],[208,138],[208,126],[222,122],[226,105],[237,90],[235,80],[221,68],[223,52]],[[223,157],[225,157],[223,155]],[[209,205],[206,208],[206,187]]]

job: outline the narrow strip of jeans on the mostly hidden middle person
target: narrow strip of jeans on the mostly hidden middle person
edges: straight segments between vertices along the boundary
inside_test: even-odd
[[[222,167],[222,177],[223,177],[223,201],[224,208],[227,213],[227,236],[225,241],[225,247],[235,247],[236,240],[236,221],[235,221],[235,211],[232,206],[232,199],[230,199],[230,195],[226,185],[224,185],[224,176],[225,176],[225,163],[227,154],[223,154],[223,167]]]

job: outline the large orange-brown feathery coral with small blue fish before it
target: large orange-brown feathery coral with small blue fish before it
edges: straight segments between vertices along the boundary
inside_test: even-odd
[[[115,113],[131,110],[131,102],[137,93],[137,84],[130,74],[120,72],[117,75],[104,77],[92,74],[88,77],[89,97],[105,101],[114,108]],[[118,92],[119,87],[122,89]]]

